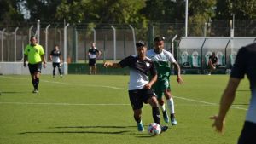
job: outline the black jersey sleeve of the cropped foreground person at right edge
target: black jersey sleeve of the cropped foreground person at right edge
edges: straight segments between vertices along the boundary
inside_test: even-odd
[[[235,65],[232,68],[231,78],[244,78],[246,73],[246,49],[241,48],[236,56]]]

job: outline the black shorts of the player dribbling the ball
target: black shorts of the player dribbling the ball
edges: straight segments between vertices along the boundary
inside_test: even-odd
[[[143,102],[148,103],[148,99],[155,96],[153,89],[129,90],[129,98],[133,110],[141,109]]]

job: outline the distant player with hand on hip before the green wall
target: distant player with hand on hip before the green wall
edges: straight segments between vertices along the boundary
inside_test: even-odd
[[[101,51],[96,49],[96,43],[91,43],[91,47],[88,50],[89,55],[89,66],[90,72],[89,74],[96,74],[97,67],[96,67],[96,59],[101,56]]]

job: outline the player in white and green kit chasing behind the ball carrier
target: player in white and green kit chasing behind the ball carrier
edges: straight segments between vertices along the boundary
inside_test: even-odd
[[[160,104],[160,109],[163,112],[163,117],[166,123],[169,123],[169,117],[166,112],[165,101],[163,98],[163,93],[166,97],[167,107],[169,108],[171,123],[172,125],[177,124],[177,120],[175,119],[174,112],[174,101],[171,94],[171,87],[169,83],[169,78],[171,76],[171,63],[177,69],[177,83],[183,84],[183,78],[180,75],[180,67],[174,59],[173,55],[164,49],[165,47],[165,37],[155,37],[154,38],[154,49],[148,50],[147,56],[148,58],[154,60],[154,64],[157,69],[158,78],[157,82],[153,85],[153,89],[155,94],[157,95],[157,99]]]

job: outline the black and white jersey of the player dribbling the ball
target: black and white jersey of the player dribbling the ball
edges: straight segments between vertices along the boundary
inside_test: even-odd
[[[119,64],[122,67],[130,67],[129,90],[143,89],[144,85],[149,82],[148,76],[156,74],[154,62],[148,57],[145,60],[139,60],[137,55],[128,56],[121,60]]]

